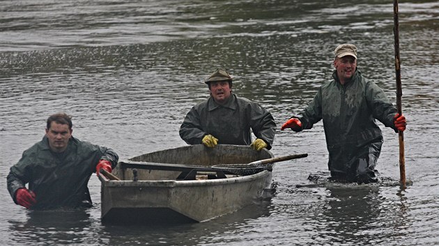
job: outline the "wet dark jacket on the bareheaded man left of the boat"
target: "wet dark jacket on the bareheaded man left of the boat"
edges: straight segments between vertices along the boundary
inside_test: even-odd
[[[8,191],[17,203],[15,192],[29,183],[29,189],[35,192],[37,201],[32,209],[91,206],[87,183],[91,174],[96,172],[100,159],[110,161],[115,167],[118,155],[112,149],[73,137],[66,151],[55,153],[50,150],[45,136],[24,151],[20,161],[10,167]]]

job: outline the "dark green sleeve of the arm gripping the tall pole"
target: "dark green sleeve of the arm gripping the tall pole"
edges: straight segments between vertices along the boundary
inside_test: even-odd
[[[368,107],[372,110],[372,115],[375,119],[379,120],[385,126],[396,129],[393,117],[396,115],[396,108],[388,99],[385,92],[376,83],[368,82],[366,88],[366,97]]]

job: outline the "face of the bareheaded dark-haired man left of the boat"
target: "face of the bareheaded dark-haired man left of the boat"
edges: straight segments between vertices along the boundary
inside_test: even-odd
[[[50,149],[54,152],[62,152],[67,148],[68,140],[72,136],[72,129],[68,128],[68,124],[52,122],[50,129],[46,129],[46,136],[49,139]]]

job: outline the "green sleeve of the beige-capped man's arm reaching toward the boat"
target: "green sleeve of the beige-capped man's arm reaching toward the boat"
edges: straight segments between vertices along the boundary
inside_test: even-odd
[[[294,117],[298,118],[302,122],[302,129],[311,129],[314,124],[322,120],[322,92],[318,90],[314,99],[308,104],[305,110],[302,110],[298,115]]]

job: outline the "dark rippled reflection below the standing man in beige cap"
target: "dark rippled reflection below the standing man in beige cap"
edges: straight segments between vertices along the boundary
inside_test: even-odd
[[[305,224],[318,231],[316,240],[328,244],[356,245],[361,241],[371,245],[382,243],[385,238],[408,236],[408,231],[401,231],[409,222],[405,205],[388,201],[382,194],[384,189],[376,184],[327,183],[318,192],[325,194],[320,198],[325,204],[319,204],[314,220]]]

